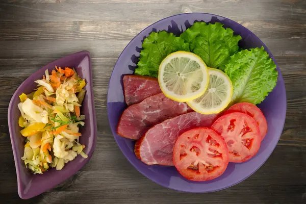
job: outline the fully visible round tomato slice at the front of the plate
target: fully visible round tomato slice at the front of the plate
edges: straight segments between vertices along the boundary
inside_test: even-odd
[[[220,176],[228,164],[227,146],[207,127],[183,133],[175,142],[173,163],[188,180],[209,181]]]

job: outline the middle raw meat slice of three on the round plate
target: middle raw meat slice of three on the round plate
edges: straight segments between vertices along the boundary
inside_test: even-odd
[[[152,126],[191,111],[186,103],[176,102],[159,93],[127,107],[119,120],[117,134],[138,140]]]

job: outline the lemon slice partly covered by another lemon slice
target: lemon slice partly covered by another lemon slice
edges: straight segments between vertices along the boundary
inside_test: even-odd
[[[208,68],[209,85],[200,97],[188,101],[194,111],[201,114],[220,113],[231,102],[233,95],[232,81],[219,69]]]

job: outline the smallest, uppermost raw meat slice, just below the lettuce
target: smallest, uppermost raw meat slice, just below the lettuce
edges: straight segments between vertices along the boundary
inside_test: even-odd
[[[162,92],[157,78],[138,75],[125,75],[123,88],[127,106],[140,103],[145,98]]]

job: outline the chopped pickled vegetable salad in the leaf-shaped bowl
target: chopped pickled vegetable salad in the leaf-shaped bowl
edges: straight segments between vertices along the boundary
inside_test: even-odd
[[[35,82],[36,91],[22,93],[18,104],[18,123],[24,127],[20,132],[27,138],[21,158],[25,166],[34,174],[43,173],[50,166],[62,169],[79,154],[87,158],[85,145],[79,143],[79,126],[85,125],[85,115],[80,114],[85,80],[74,69],[56,67]]]

